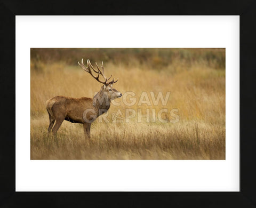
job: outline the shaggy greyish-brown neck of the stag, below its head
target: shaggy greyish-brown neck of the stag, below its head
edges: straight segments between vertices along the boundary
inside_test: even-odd
[[[98,111],[98,116],[105,113],[110,107],[110,99],[108,99],[108,95],[102,91],[99,91],[93,97],[93,106]]]

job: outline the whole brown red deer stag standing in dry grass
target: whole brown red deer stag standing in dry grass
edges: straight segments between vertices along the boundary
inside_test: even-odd
[[[81,64],[79,62],[78,64],[94,79],[102,83],[103,86],[93,98],[69,98],[65,96],[56,96],[47,100],[46,109],[50,119],[48,132],[50,133],[52,130],[52,132],[55,134],[62,122],[66,120],[71,123],[83,124],[85,138],[90,138],[91,123],[95,121],[98,116],[106,113],[110,107],[110,101],[116,98],[121,98],[122,93],[118,92],[112,87],[113,84],[118,81],[118,78],[116,81],[114,81],[113,78],[112,81],[108,82],[112,75],[109,78],[105,76],[103,61],[101,69],[96,63],[98,70],[93,68],[89,59],[87,60],[87,67],[84,65],[83,59]],[[93,75],[93,71],[94,73],[97,73],[96,76]],[[100,81],[100,75],[103,77],[104,81]],[[53,127],[54,122],[55,125]]]

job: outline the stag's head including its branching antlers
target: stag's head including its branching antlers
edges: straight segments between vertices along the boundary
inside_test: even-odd
[[[101,62],[101,69],[97,65],[97,62],[95,62],[98,70],[93,68],[93,66],[91,65],[91,62],[89,61],[89,59],[87,59],[87,67],[84,65],[83,59],[82,59],[81,64],[79,62],[78,62],[78,64],[79,64],[79,66],[82,67],[82,69],[84,69],[90,75],[92,75],[92,77],[94,79],[96,79],[98,82],[103,84],[103,86],[101,87],[101,92],[103,94],[107,95],[108,100],[114,100],[116,98],[121,98],[122,97],[122,93],[113,88],[113,84],[118,81],[118,78],[115,81],[115,78],[113,77],[112,81],[108,82],[109,79],[112,77],[112,75],[110,75],[110,77],[108,77],[108,78],[105,76],[105,74],[104,74],[104,67],[103,67],[103,61]],[[94,71],[94,73],[97,73],[97,76],[94,76],[92,71]],[[105,81],[100,81],[100,79],[99,79],[100,75],[103,77],[103,79]]]

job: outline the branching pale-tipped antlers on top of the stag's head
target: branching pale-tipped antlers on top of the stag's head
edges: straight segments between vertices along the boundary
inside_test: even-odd
[[[102,84],[109,85],[109,84],[114,84],[114,83],[116,83],[116,82],[118,81],[118,78],[117,78],[116,81],[114,81],[114,77],[113,77],[113,80],[112,80],[112,81],[107,82],[107,81],[109,81],[109,79],[111,78],[112,75],[110,75],[110,77],[108,77],[108,78],[105,76],[105,74],[104,74],[104,67],[103,67],[103,61],[101,62],[101,69],[102,69],[102,71],[100,70],[99,66],[97,65],[97,62],[95,62],[95,63],[96,63],[96,66],[97,66],[98,71],[95,70],[95,69],[93,68],[91,62],[89,61],[89,59],[87,59],[87,66],[88,66],[88,67],[86,67],[86,66],[84,65],[83,59],[82,59],[81,64],[79,63],[79,61],[77,61],[77,62],[78,62],[78,65],[82,67],[82,69],[84,69],[85,71],[87,71],[89,74],[92,75],[92,77],[93,77],[94,79],[96,79],[98,82],[100,82],[100,83],[102,83]],[[97,73],[98,76],[94,76],[93,73],[92,73],[92,70],[93,70],[95,73]],[[100,79],[99,79],[99,76],[100,76],[100,75],[105,79],[105,82],[100,81]]]

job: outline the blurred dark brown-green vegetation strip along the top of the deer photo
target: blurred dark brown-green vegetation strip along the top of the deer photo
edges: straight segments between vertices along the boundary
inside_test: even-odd
[[[147,64],[150,68],[161,68],[172,64],[173,61],[186,62],[187,65],[203,62],[211,68],[225,70],[225,49],[150,49],[150,48],[31,48],[31,62],[62,62],[67,65],[77,65],[77,61],[87,59],[95,61],[111,61],[132,66]]]

